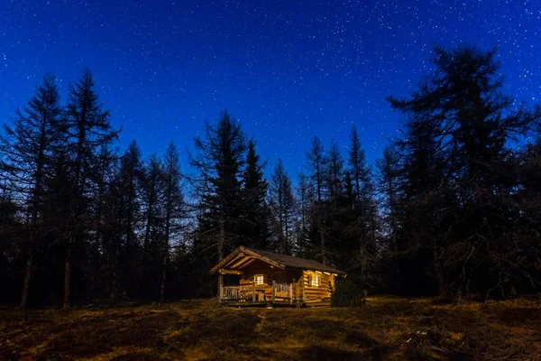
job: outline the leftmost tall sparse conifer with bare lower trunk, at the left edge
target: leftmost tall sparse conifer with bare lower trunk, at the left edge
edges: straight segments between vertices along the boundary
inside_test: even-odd
[[[34,248],[40,235],[46,233],[45,225],[41,224],[43,187],[51,176],[52,157],[63,141],[62,132],[59,90],[54,76],[48,74],[27,105],[17,109],[14,125],[5,125],[5,135],[0,137],[0,150],[4,154],[0,168],[12,191],[22,195],[21,210],[28,218],[25,222],[28,239],[24,245],[27,256],[22,309],[28,302]]]

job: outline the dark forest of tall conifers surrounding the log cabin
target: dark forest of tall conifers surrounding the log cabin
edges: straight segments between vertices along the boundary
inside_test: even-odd
[[[204,125],[188,164],[174,140],[143,158],[136,141],[118,150],[89,70],[66,99],[46,74],[3,115],[0,303],[212,297],[208,270],[239,245],[333,265],[369,293],[539,295],[541,106],[505,94],[495,50],[433,52],[415,91],[388,98],[401,131],[377,162],[353,127],[347,153],[314,137],[302,174],[273,160],[268,179],[234,112]]]

